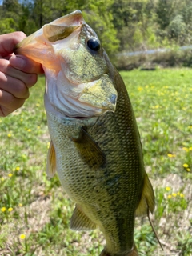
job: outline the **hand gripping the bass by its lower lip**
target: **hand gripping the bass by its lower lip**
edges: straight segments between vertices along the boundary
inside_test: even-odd
[[[0,35],[0,117],[6,117],[29,98],[29,88],[42,74],[42,66],[22,55],[14,46],[26,38],[22,32]]]

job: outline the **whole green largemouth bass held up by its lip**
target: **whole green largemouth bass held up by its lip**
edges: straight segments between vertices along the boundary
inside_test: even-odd
[[[98,35],[76,10],[15,46],[42,64],[50,148],[46,171],[75,202],[72,230],[102,231],[100,256],[138,256],[136,217],[154,212],[134,110]]]

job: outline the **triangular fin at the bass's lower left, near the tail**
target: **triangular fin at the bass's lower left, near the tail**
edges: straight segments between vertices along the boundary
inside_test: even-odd
[[[96,227],[96,224],[83,213],[80,206],[76,205],[70,219],[70,228],[72,230],[94,230]]]

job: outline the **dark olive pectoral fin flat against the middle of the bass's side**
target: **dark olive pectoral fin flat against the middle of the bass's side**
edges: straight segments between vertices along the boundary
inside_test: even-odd
[[[82,128],[79,138],[73,138],[78,152],[82,156],[82,160],[86,162],[91,169],[98,170],[106,163],[106,156],[98,146],[97,142],[87,134],[86,130]]]

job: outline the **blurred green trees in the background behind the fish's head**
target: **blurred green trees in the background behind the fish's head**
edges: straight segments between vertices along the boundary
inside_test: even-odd
[[[2,0],[0,34],[22,30],[28,35],[77,9],[110,56],[191,44],[191,0]]]

